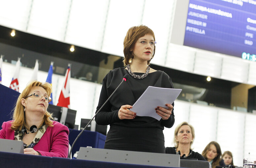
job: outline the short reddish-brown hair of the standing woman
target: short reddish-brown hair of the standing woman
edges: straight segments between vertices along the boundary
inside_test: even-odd
[[[133,27],[129,28],[129,30],[125,36],[125,39],[124,39],[124,55],[125,55],[125,58],[123,60],[124,66],[129,64],[131,62],[131,59],[134,57],[132,51],[130,51],[130,50],[134,46],[135,42],[140,37],[143,37],[148,34],[152,35],[154,37],[154,40],[156,41],[154,32],[147,26],[139,25],[139,26],[133,26]],[[155,51],[156,51],[156,46],[154,47],[154,51],[152,53],[152,58],[155,55]],[[152,60],[152,58],[150,60]],[[150,60],[148,60],[148,64],[149,64]]]

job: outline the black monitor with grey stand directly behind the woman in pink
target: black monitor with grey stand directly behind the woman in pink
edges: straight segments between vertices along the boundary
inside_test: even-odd
[[[66,117],[62,116],[62,114],[64,114],[65,109],[67,109]],[[55,105],[51,105],[51,104],[49,104],[47,110],[53,114],[53,118],[55,121],[58,121],[61,123],[61,118],[64,117],[64,118],[66,118],[65,123],[63,122],[62,124],[64,124],[68,128],[74,129],[75,120],[76,120],[76,110],[72,110],[69,108],[63,108],[63,107],[55,106]]]

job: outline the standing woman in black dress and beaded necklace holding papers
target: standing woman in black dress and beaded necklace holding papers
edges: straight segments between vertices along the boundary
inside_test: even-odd
[[[150,60],[156,51],[154,32],[147,26],[131,27],[124,39],[124,68],[111,70],[103,79],[97,110],[109,98],[123,80],[124,82],[96,115],[99,125],[110,125],[105,149],[165,153],[164,127],[174,124],[173,106],[156,106],[153,110],[161,116],[137,116],[132,105],[148,86],[173,88],[171,78],[163,71],[150,68]],[[154,99],[154,97],[152,97]]]

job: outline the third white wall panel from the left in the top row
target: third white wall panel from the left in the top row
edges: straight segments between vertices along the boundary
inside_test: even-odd
[[[73,0],[65,42],[100,51],[108,0]]]

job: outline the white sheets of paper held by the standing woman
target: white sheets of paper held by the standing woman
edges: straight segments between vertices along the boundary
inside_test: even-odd
[[[166,108],[166,103],[172,104],[181,90],[148,86],[130,110],[136,112],[137,116],[149,116],[160,120],[162,117],[156,113],[155,108],[158,106]]]

